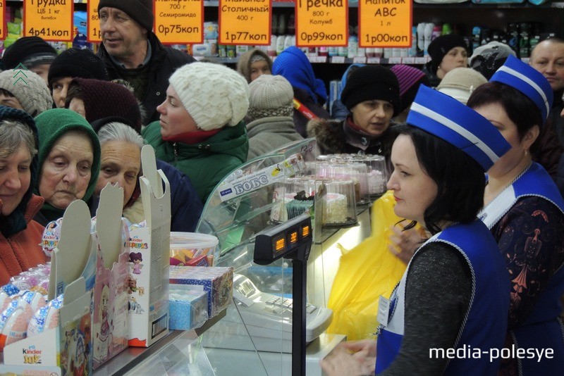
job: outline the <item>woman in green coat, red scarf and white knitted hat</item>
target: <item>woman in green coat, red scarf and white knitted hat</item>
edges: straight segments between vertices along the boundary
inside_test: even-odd
[[[243,118],[248,84],[239,73],[214,63],[190,63],[168,80],[160,118],[142,135],[157,158],[190,177],[205,203],[223,177],[247,160]]]

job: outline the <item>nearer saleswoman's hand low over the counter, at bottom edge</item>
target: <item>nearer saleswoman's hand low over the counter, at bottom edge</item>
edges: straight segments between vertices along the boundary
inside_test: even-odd
[[[328,376],[374,375],[376,341],[363,339],[338,344],[320,364]]]

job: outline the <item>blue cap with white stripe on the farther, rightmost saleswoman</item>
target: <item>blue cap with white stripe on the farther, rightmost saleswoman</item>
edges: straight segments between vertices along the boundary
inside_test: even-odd
[[[528,96],[541,111],[543,122],[546,121],[552,107],[553,92],[551,84],[542,73],[515,56],[509,56],[505,64],[491,76],[490,82],[492,81],[507,84]]]

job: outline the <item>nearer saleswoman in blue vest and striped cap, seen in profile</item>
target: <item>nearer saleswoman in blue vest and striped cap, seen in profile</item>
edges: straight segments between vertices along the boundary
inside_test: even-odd
[[[329,375],[495,375],[508,272],[477,213],[484,171],[510,146],[481,115],[424,86],[398,131],[388,182],[394,211],[432,237],[389,301],[381,298],[377,344],[342,344],[321,366]]]

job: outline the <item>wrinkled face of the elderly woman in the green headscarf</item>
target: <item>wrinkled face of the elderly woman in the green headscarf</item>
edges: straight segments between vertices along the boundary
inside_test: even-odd
[[[92,175],[94,151],[86,134],[63,134],[49,152],[39,175],[39,194],[55,208],[82,199]]]

